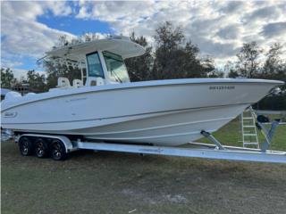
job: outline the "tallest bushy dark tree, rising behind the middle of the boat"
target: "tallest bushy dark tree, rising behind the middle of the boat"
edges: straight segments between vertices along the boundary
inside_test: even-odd
[[[174,28],[169,21],[156,29],[156,50],[153,67],[154,79],[206,78],[214,70],[209,58],[198,59],[199,49],[191,41],[185,43],[181,27]]]

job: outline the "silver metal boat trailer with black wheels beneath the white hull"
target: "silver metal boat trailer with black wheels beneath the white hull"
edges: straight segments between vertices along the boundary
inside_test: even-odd
[[[268,130],[267,143],[262,146],[262,149],[243,148],[235,146],[226,146],[221,144],[210,133],[202,130],[201,135],[206,136],[213,144],[189,143],[187,147],[171,147],[171,146],[156,146],[156,145],[139,145],[139,144],[119,144],[119,143],[105,143],[105,142],[90,142],[78,140],[70,140],[66,136],[53,135],[38,135],[38,134],[23,134],[17,137],[16,142],[21,147],[21,141],[25,139],[33,139],[34,144],[43,142],[50,142],[52,157],[54,160],[64,160],[66,154],[80,149],[94,150],[94,151],[109,151],[109,152],[131,152],[139,154],[157,154],[169,155],[179,157],[191,158],[205,158],[216,160],[230,160],[230,161],[257,161],[257,162],[273,162],[286,163],[286,152],[268,150],[271,138],[273,135],[273,128]],[[265,128],[265,130],[267,130]],[[269,143],[269,144],[268,144]],[[37,145],[36,145],[37,147]],[[42,146],[43,147],[43,146]],[[46,146],[47,147],[47,146]],[[45,146],[44,146],[45,148]],[[36,148],[36,152],[38,149]],[[29,153],[29,152],[28,152]],[[45,153],[45,151],[44,151]],[[22,155],[26,155],[21,152]],[[30,154],[30,153],[29,153]],[[43,157],[43,152],[37,152],[38,157]]]

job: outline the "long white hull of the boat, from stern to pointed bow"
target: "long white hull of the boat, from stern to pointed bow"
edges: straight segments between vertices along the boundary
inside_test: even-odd
[[[3,128],[101,141],[179,145],[214,132],[278,81],[150,81],[61,90],[4,103]]]

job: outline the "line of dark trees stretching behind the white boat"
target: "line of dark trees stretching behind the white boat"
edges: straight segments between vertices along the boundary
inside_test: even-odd
[[[63,36],[53,48],[97,38],[95,34],[85,34],[68,41]],[[282,45],[279,43],[271,45],[268,50],[263,50],[255,41],[243,44],[240,52],[236,54],[236,60],[215,68],[214,59],[202,56],[198,45],[185,36],[183,29],[173,26],[169,21],[162,23],[155,30],[153,45],[148,43],[146,37],[136,36],[134,32],[131,33],[130,39],[146,49],[144,55],[125,60],[131,81],[223,77],[286,81],[286,62],[282,60]],[[35,70],[29,70],[27,78],[16,80],[12,70],[1,69],[2,87],[11,88],[24,82],[29,83],[31,91],[44,92],[57,85],[58,77],[66,77],[70,81],[80,78],[80,69],[68,64],[51,62],[49,59],[44,59],[41,64],[46,70],[46,77]],[[282,91],[286,91],[286,85],[282,86]]]

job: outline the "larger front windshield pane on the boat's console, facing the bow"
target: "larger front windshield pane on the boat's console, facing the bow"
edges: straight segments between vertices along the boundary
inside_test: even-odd
[[[109,78],[116,82],[130,82],[130,78],[121,55],[103,52]]]

